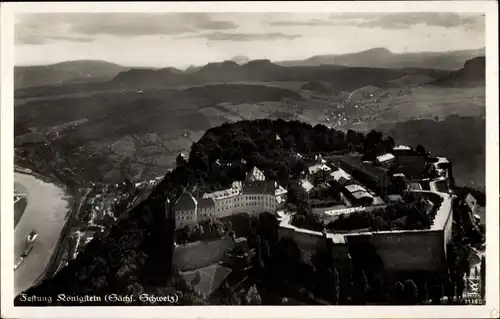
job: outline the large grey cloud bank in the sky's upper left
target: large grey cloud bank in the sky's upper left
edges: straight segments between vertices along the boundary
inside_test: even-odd
[[[37,13],[20,15],[17,43],[88,42],[99,35],[134,37],[179,35],[200,31],[234,30],[232,21],[209,13]]]

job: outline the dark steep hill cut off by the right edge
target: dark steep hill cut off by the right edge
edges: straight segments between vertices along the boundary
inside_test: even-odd
[[[474,87],[485,84],[486,59],[484,56],[467,60],[458,71],[440,77],[431,82],[431,85],[445,87]]]

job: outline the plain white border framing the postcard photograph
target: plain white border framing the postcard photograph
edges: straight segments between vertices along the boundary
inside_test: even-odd
[[[2,318],[494,318],[499,316],[498,8],[496,1],[2,3],[1,5],[1,317]],[[221,10],[223,8],[223,10]],[[13,307],[14,12],[478,12],[486,14],[486,306]],[[467,39],[464,39],[467,41]],[[459,142],[459,141],[457,141]]]

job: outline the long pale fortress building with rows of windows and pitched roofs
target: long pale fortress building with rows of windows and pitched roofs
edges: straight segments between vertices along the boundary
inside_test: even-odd
[[[286,196],[285,188],[266,180],[264,173],[254,167],[244,181],[233,182],[227,189],[205,193],[201,198],[184,192],[174,204],[176,228],[239,213],[274,213],[283,208]]]

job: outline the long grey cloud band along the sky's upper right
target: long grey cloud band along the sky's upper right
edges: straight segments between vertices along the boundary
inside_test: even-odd
[[[399,12],[399,13],[332,13],[326,19],[279,20],[273,26],[335,26],[350,25],[361,28],[408,29],[425,24],[443,28],[484,30],[484,14],[453,12]]]

